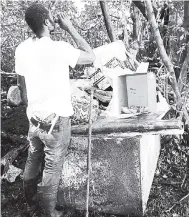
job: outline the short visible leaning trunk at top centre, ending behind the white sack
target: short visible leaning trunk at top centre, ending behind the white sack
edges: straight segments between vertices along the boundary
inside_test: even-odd
[[[114,33],[113,26],[111,24],[111,19],[110,19],[110,15],[109,15],[107,2],[104,0],[101,0],[100,1],[100,7],[101,7],[102,14],[104,17],[104,22],[105,22],[106,30],[108,32],[108,36],[109,36],[111,42],[116,41],[116,35]]]

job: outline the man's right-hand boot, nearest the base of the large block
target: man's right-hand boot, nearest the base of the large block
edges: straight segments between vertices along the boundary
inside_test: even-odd
[[[63,213],[57,211],[56,202],[57,202],[57,189],[39,186],[39,199],[41,205],[48,217],[62,217]]]

